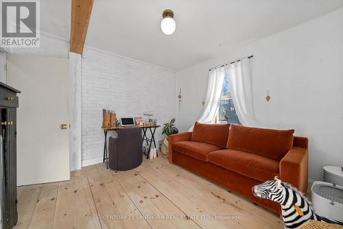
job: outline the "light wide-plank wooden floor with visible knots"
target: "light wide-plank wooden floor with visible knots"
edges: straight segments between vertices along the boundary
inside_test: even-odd
[[[159,157],[18,187],[18,228],[283,228],[279,216]],[[223,218],[224,217],[224,218]]]

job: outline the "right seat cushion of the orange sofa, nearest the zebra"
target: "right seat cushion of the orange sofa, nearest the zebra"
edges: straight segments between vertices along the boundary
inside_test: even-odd
[[[274,180],[279,176],[279,161],[233,149],[211,152],[209,162],[255,180]]]

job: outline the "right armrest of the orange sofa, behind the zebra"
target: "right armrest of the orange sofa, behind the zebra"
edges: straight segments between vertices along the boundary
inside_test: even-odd
[[[280,161],[280,179],[307,193],[308,184],[307,147],[293,147]]]

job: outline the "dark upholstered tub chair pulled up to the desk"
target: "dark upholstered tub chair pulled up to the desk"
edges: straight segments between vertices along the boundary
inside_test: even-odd
[[[143,157],[143,138],[141,128],[118,130],[117,138],[108,140],[110,169],[123,171],[141,165]]]

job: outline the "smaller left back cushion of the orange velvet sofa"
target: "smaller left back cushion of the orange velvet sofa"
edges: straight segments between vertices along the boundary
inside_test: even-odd
[[[194,124],[192,141],[200,141],[225,148],[228,141],[229,123],[225,124]]]

